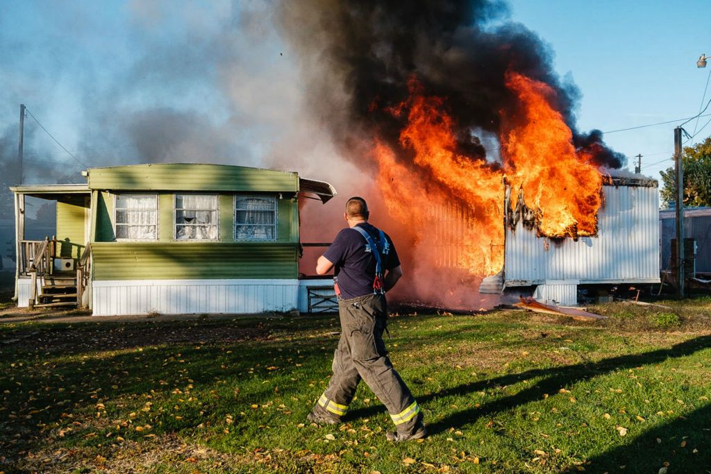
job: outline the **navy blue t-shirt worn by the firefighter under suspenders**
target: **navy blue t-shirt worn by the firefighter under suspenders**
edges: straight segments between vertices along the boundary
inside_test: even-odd
[[[380,245],[380,232],[378,228],[363,222],[358,224],[365,232],[373,237],[373,240]],[[397,257],[395,245],[392,244],[390,236],[385,234],[387,242],[390,244],[390,251],[387,255],[380,254],[385,270],[394,269],[400,266],[400,259]],[[373,293],[373,280],[375,280],[375,257],[372,252],[365,252],[365,237],[360,235],[355,229],[348,227],[341,230],[333,239],[333,244],[328,247],[324,257],[335,267],[334,275],[338,277],[338,289],[341,290],[341,298],[350,299]]]

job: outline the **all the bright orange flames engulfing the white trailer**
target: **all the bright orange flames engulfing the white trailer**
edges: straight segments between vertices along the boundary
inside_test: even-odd
[[[591,156],[576,151],[572,132],[555,109],[555,92],[542,82],[509,73],[518,101],[501,111],[500,165],[457,152],[445,99],[427,96],[415,78],[410,97],[391,109],[407,116],[401,150],[376,140],[376,183],[390,215],[406,223],[419,252],[434,266],[487,275],[503,266],[504,185],[535,212],[540,235],[594,235],[602,176]],[[407,156],[414,155],[412,160]],[[502,166],[503,165],[503,166]],[[515,205],[513,200],[512,205]]]

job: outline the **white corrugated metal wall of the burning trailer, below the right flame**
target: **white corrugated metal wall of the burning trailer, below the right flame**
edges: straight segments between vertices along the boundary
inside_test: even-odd
[[[585,283],[659,281],[658,188],[603,187],[597,237],[547,239],[506,229],[507,286],[546,280]]]

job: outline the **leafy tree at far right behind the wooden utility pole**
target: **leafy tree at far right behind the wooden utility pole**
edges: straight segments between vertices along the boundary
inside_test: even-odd
[[[711,206],[711,136],[694,146],[685,146],[682,153],[684,163],[684,206],[697,208]],[[661,171],[661,200],[663,207],[670,207],[676,201],[676,173],[674,168]]]

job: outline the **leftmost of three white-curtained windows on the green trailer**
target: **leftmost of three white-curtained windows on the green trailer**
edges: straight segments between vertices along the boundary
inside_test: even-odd
[[[157,214],[155,195],[117,195],[116,238],[155,240]]]

